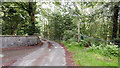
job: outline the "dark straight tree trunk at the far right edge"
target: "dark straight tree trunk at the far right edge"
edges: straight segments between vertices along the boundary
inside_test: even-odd
[[[118,5],[114,7],[114,15],[113,15],[113,33],[112,39],[117,38],[117,30],[118,30]]]

